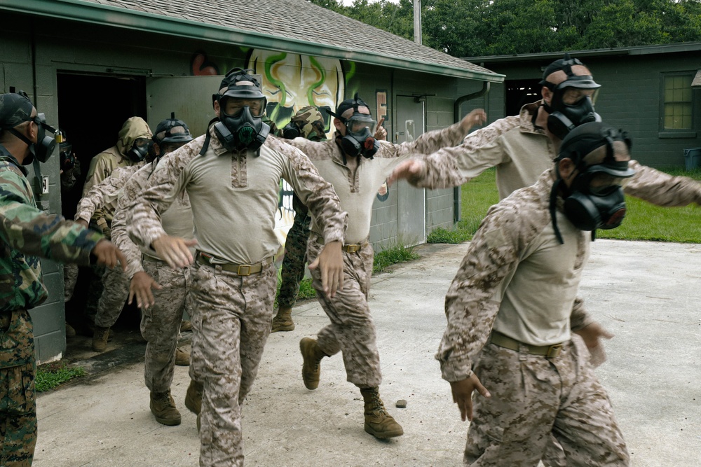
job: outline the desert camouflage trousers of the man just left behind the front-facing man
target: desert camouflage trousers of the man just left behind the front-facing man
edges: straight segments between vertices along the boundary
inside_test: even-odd
[[[144,271],[161,289],[153,289],[155,304],[142,309],[141,335],[147,340],[144,380],[152,392],[170,389],[175,368],[175,347],[182,312],[190,288],[190,268],[172,269],[167,263],[144,259]]]

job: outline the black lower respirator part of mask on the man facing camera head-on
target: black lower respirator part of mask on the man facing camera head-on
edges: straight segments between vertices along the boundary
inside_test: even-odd
[[[270,126],[261,120],[262,113],[257,117],[252,116],[249,106],[243,106],[236,115],[224,113],[224,106],[220,109],[222,116],[215,123],[215,134],[227,151],[257,151],[263,146],[270,133]]]

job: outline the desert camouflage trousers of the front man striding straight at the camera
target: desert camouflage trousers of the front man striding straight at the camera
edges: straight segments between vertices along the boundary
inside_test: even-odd
[[[196,263],[191,268],[191,370],[204,384],[200,466],[243,466],[240,404],[258,372],[273,319],[277,270],[237,276]]]

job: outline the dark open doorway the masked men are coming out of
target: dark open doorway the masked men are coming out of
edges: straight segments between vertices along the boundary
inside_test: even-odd
[[[57,74],[58,121],[80,162],[81,174],[70,189],[62,189],[61,209],[72,219],[81,200],[90,160],[114,146],[125,120],[139,116],[147,120],[146,78],[101,76],[59,71]],[[92,271],[81,267],[73,298],[66,304],[66,319],[76,330],[86,332],[83,310],[88,300]],[[138,328],[139,313],[122,313],[125,326]]]

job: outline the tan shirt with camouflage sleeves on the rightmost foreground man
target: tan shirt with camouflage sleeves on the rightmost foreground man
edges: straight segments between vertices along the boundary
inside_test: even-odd
[[[548,170],[533,186],[495,204],[472,238],[445,298],[448,326],[435,358],[447,381],[470,377],[493,328],[521,342],[554,344],[591,322],[576,298],[590,235],[564,217],[560,198],[564,244],[557,242],[552,183]]]

